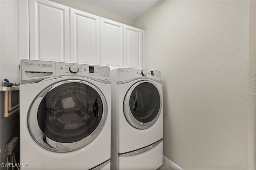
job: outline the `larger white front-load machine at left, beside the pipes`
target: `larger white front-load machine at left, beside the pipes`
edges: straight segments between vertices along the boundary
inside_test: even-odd
[[[110,68],[20,63],[22,170],[110,170]]]

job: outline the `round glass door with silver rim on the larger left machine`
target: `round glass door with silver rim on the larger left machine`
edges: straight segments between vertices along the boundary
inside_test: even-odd
[[[59,82],[35,99],[28,115],[29,129],[44,148],[76,150],[99,134],[106,107],[103,94],[94,85],[79,80]]]

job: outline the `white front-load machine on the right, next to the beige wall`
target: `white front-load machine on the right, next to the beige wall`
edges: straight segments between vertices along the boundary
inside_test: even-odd
[[[163,160],[161,71],[116,68],[111,77],[111,169],[156,170]]]

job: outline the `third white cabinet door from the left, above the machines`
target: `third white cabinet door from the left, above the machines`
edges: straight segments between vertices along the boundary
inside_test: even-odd
[[[124,24],[100,18],[100,64],[124,66]]]

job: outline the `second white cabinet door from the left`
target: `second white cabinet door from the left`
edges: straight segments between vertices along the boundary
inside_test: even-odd
[[[100,17],[70,8],[70,62],[100,64]]]

